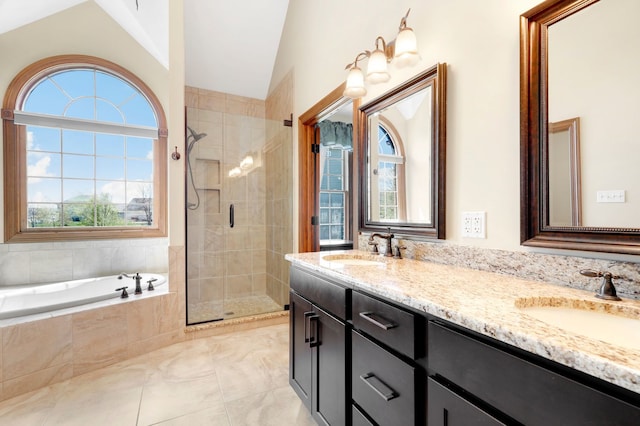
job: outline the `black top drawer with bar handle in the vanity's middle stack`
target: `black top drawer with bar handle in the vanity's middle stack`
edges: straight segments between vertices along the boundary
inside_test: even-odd
[[[357,291],[351,299],[354,328],[412,359],[424,355],[422,317]]]

